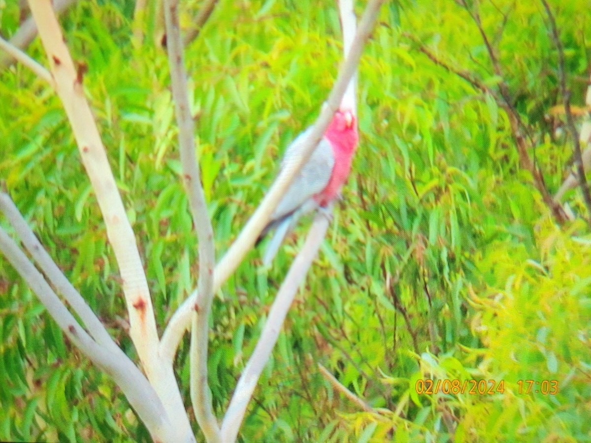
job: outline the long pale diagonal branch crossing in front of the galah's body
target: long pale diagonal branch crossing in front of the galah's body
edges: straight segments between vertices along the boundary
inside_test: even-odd
[[[232,275],[242,262],[246,253],[251,250],[262,228],[268,223],[272,211],[274,211],[281,197],[296,177],[297,172],[300,171],[301,167],[310,158],[312,151],[322,138],[324,131],[326,131],[330,120],[333,118],[336,110],[339,109],[340,101],[345,95],[349,82],[357,70],[363,45],[365,45],[365,41],[369,38],[374,28],[379,8],[384,1],[369,1],[363,17],[359,22],[359,28],[353,39],[349,55],[339,70],[339,75],[326,101],[326,106],[323,106],[320,110],[320,115],[316,119],[316,122],[314,122],[309,135],[303,141],[302,155],[294,159],[293,162],[290,162],[281,171],[281,174],[272,185],[267,196],[262,200],[251,219],[248,220],[238,238],[232,243],[232,246],[230,246],[220,262],[217,263],[213,274],[214,292]],[[191,323],[191,314],[196,302],[199,305],[201,304],[199,291],[193,291],[190,297],[183,302],[170,319],[161,340],[162,348],[176,351],[184,331]]]

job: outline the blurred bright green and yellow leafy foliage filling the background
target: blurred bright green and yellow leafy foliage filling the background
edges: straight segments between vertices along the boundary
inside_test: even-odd
[[[201,3],[182,3],[187,30]],[[551,2],[579,108],[589,78],[588,6]],[[74,60],[89,68],[85,90],[164,325],[196,284],[196,236],[178,180],[161,21],[148,2],[145,22],[134,24],[134,7],[78,2],[60,21]],[[503,79],[471,8],[479,8]],[[0,2],[2,34],[12,35],[23,14],[16,0]],[[219,255],[268,189],[285,146],[319,112],[340,39],[333,1],[220,0],[187,46],[187,93]],[[540,3],[388,2],[360,66],[352,175],[241,441],[591,440],[588,227],[580,218],[556,224],[519,165],[505,110],[420,45],[491,89],[506,82],[550,193],[569,171],[573,143],[561,130],[557,53]],[[28,52],[44,61],[38,41]],[[0,103],[0,178],[134,356],[116,262],[59,99],[14,66],[0,72]],[[566,198],[586,215],[578,191]],[[251,252],[215,299],[209,381],[218,416],[304,231],[271,271]],[[176,367],[195,422],[187,350],[184,341]],[[64,340],[4,258],[0,356],[0,440],[149,441],[122,393]],[[334,390],[318,364],[375,411]],[[421,395],[420,379],[503,380],[504,392]],[[559,392],[519,392],[526,379],[557,380]]]

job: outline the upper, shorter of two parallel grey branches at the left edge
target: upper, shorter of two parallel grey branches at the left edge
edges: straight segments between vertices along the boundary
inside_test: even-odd
[[[89,305],[86,304],[82,295],[76,291],[76,288],[74,288],[74,286],[68,281],[66,276],[56,265],[56,262],[51,259],[51,256],[44,249],[43,245],[41,245],[37,236],[35,236],[35,233],[31,230],[27,221],[22,217],[22,214],[14,204],[14,201],[12,201],[12,198],[2,190],[0,190],[0,210],[4,213],[8,222],[12,224],[12,227],[14,227],[15,232],[20,237],[22,244],[31,254],[35,262],[41,267],[41,270],[45,273],[51,284],[54,285],[57,291],[80,316],[90,335],[92,335],[96,342],[101,346],[108,348],[113,353],[121,351],[103,324],[100,323],[100,320],[96,317],[95,313],[90,309]]]

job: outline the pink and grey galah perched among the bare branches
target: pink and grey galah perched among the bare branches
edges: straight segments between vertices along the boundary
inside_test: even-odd
[[[306,129],[288,146],[281,168],[301,155],[303,142],[311,129]],[[275,229],[263,256],[265,266],[271,263],[285,236],[294,229],[301,216],[325,208],[339,196],[340,189],[349,177],[358,140],[355,113],[350,109],[337,110],[323,138],[294,178],[259,236],[260,241],[265,234]]]

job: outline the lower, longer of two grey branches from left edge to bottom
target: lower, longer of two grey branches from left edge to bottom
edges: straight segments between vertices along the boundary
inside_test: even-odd
[[[60,298],[47,284],[43,275],[30,262],[17,243],[0,227],[0,251],[22,276],[27,285],[37,294],[47,312],[60,326],[66,336],[96,366],[111,375],[121,387],[139,418],[147,426],[154,440],[180,441],[174,426],[168,421],[163,404],[154,389],[139,369],[122,351],[113,353],[97,344],[77,323],[76,318],[67,310]],[[125,358],[122,358],[122,355]]]

